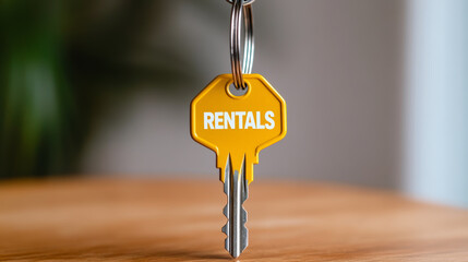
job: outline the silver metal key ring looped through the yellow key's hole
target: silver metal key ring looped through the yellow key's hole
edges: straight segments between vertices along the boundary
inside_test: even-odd
[[[247,88],[242,72],[252,73],[254,38],[253,38],[253,17],[252,5],[255,0],[227,0],[232,3],[231,24],[230,24],[230,58],[232,68],[232,80],[236,88]],[[240,39],[241,39],[241,19],[242,10],[244,15],[244,47],[242,68],[240,67]]]

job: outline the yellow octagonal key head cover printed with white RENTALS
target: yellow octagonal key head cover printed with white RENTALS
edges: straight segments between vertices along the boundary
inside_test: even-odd
[[[253,180],[253,164],[259,153],[286,135],[286,103],[260,74],[244,74],[248,91],[236,96],[229,91],[231,74],[216,76],[191,105],[191,134],[213,150],[225,181],[230,157],[231,168],[245,168],[245,179]]]

